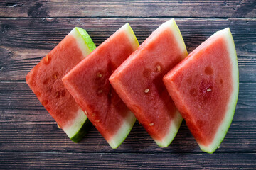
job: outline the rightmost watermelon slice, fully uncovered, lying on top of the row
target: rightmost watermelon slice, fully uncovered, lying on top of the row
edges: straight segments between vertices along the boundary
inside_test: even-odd
[[[213,153],[230,127],[238,100],[238,60],[229,28],[213,34],[164,77],[188,128]]]

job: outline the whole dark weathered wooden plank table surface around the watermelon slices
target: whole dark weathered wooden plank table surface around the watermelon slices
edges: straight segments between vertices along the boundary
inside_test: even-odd
[[[0,1],[0,169],[256,169],[256,1]],[[141,44],[175,18],[188,52],[230,27],[240,71],[233,123],[214,154],[202,152],[183,121],[158,147],[139,123],[118,149],[95,128],[75,144],[25,82],[26,74],[74,26],[96,45],[129,22]]]

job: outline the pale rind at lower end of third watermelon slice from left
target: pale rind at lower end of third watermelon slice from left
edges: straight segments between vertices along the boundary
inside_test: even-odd
[[[176,136],[183,120],[178,110],[176,111],[175,115],[176,117],[171,121],[169,132],[166,134],[166,136],[162,140],[154,140],[159,147],[168,147],[174,140],[174,137]]]

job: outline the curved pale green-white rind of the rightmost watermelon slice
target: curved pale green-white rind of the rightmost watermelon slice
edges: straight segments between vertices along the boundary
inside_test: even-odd
[[[216,133],[215,139],[213,140],[213,142],[208,146],[198,144],[200,149],[203,152],[207,152],[209,154],[212,154],[213,152],[215,152],[217,148],[220,147],[220,143],[223,142],[224,137],[227,134],[228,129],[230,128],[230,125],[232,123],[232,120],[235,114],[235,106],[238,102],[238,91],[239,91],[238,57],[236,55],[235,43],[234,43],[232,34],[230,32],[230,28],[225,28],[223,30],[220,30],[215,34],[213,34],[212,36],[218,36],[218,35],[223,35],[228,45],[228,50],[230,52],[230,60],[232,62],[232,67],[233,67],[232,73],[233,73],[234,91],[232,96],[230,96],[228,111],[225,115],[223,123],[221,123],[220,128],[218,128],[218,132]]]

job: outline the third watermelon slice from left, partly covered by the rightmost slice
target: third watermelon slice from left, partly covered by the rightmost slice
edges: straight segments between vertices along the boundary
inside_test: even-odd
[[[110,77],[110,83],[160,147],[181,125],[162,78],[188,55],[174,19],[157,28]]]

